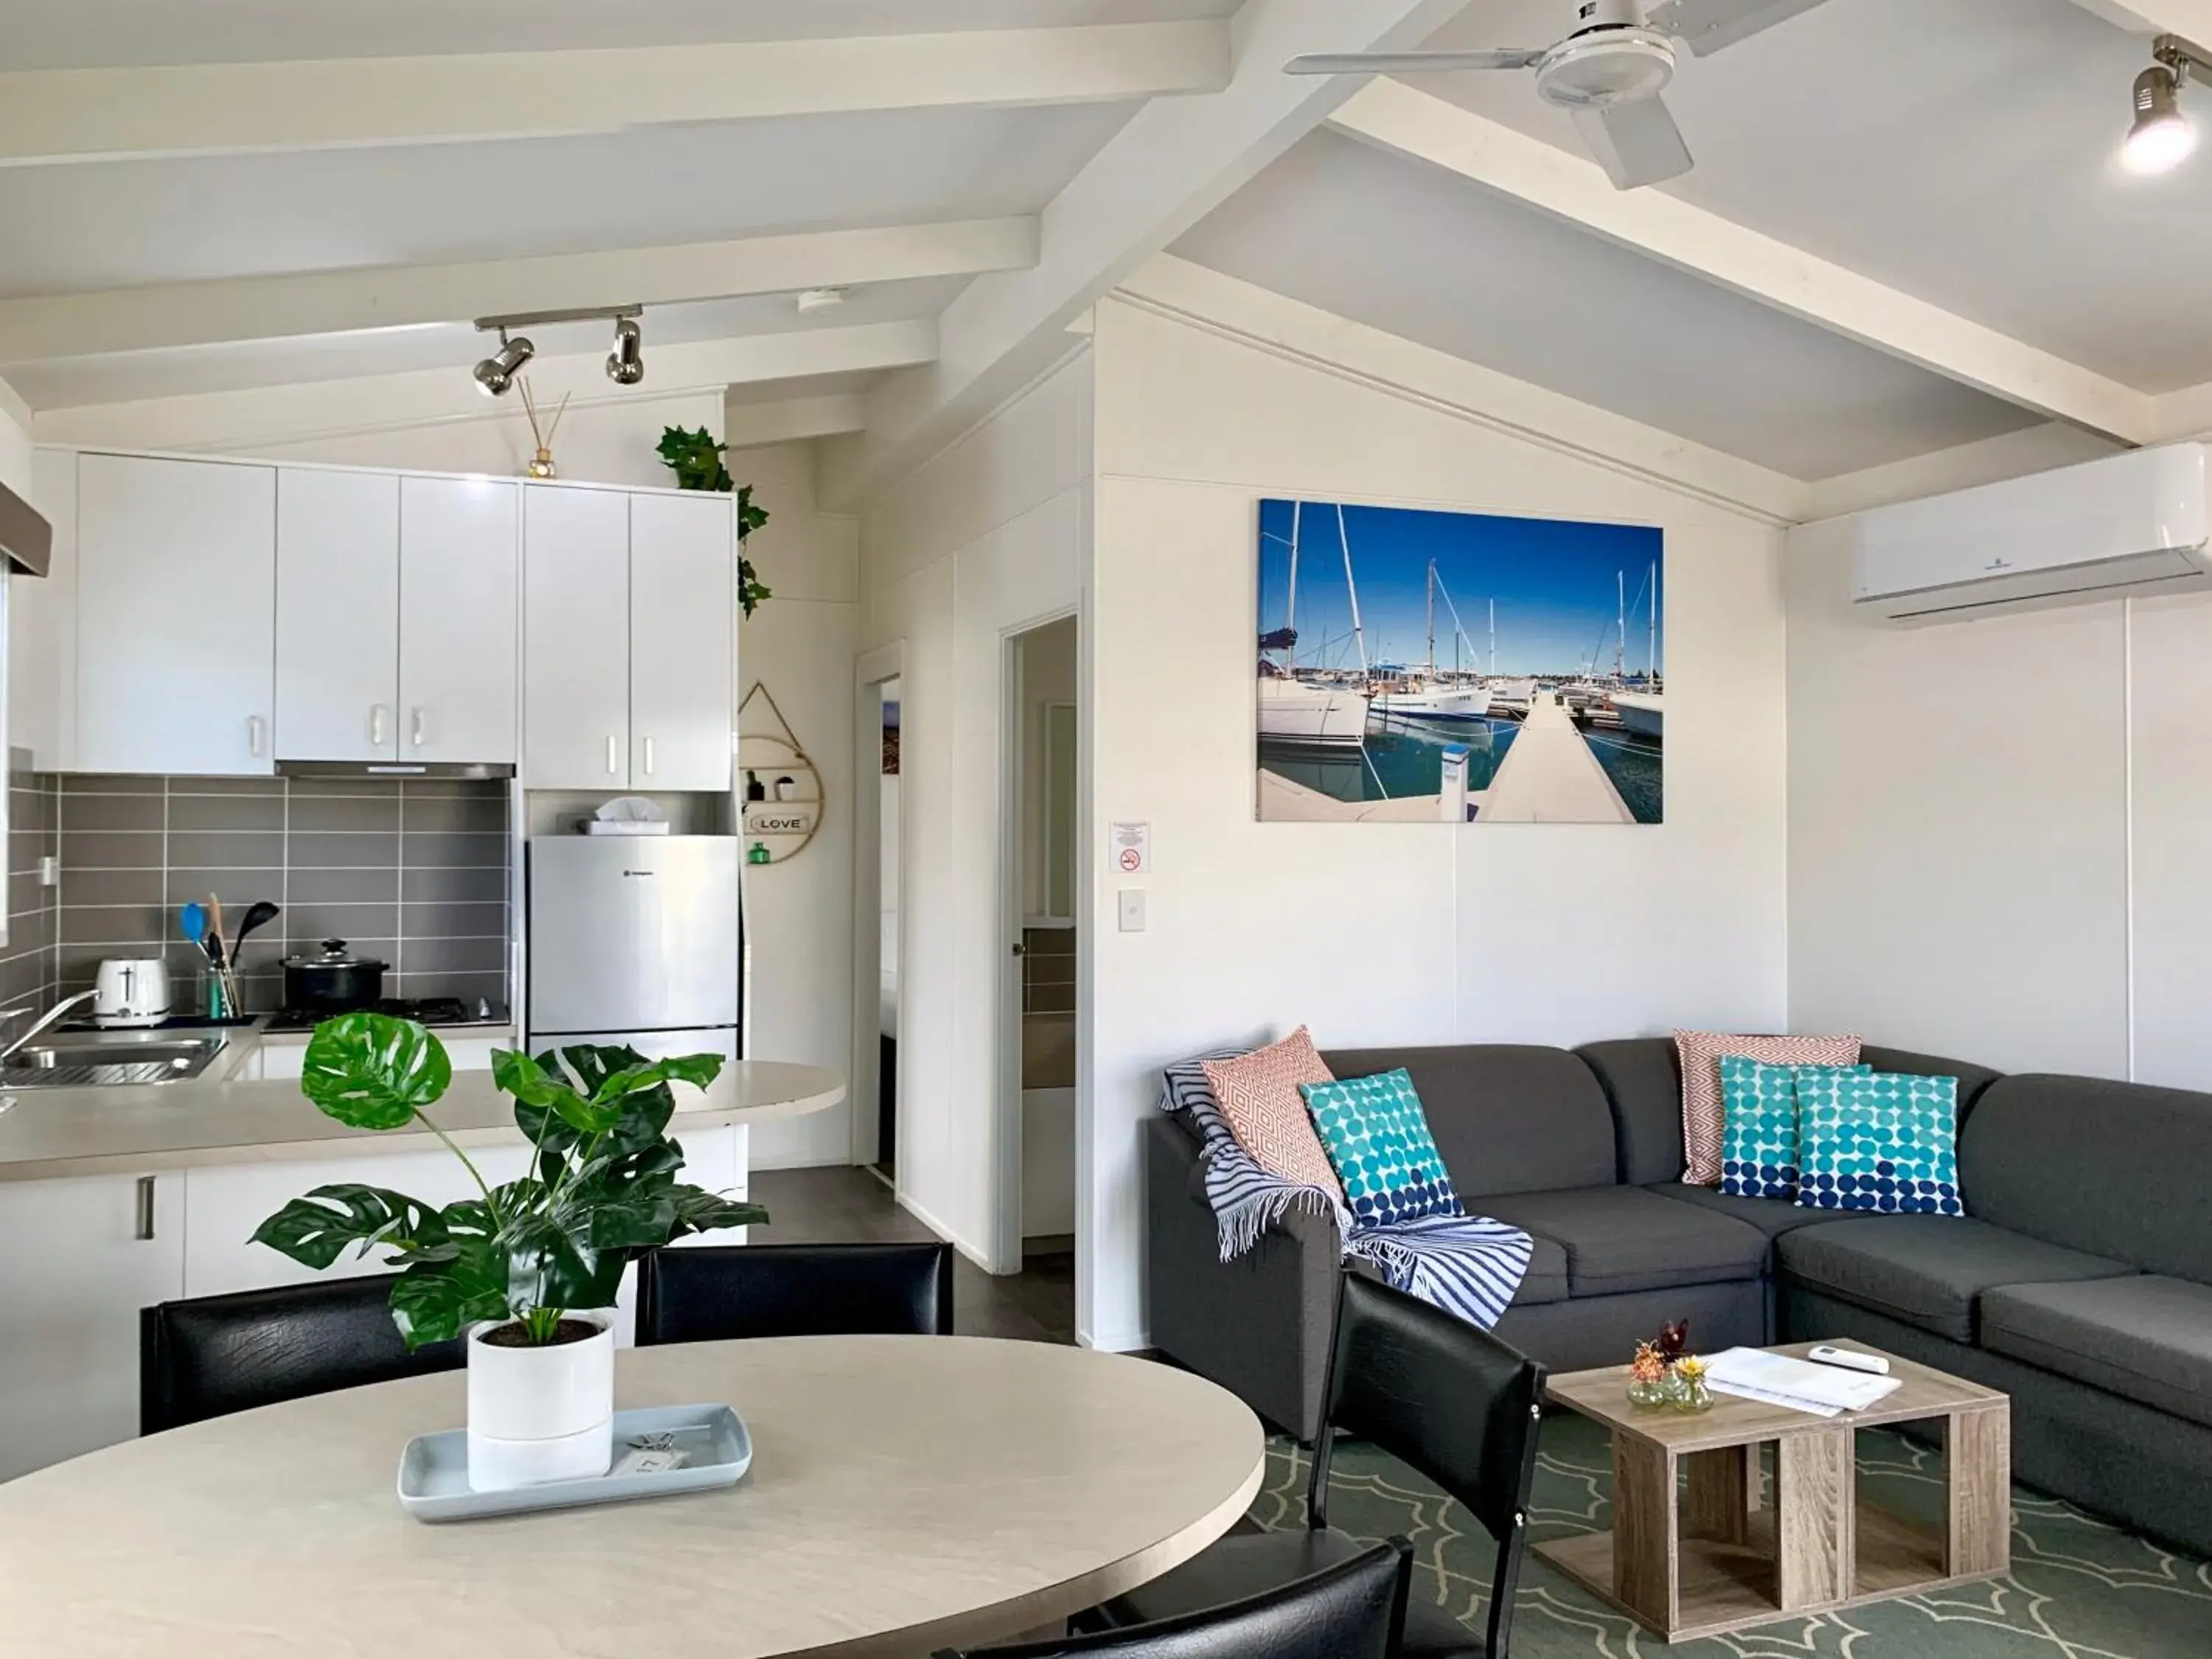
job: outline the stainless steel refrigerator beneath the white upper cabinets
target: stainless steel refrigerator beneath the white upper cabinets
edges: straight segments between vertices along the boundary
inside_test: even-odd
[[[737,836],[531,836],[529,1051],[739,1057]]]

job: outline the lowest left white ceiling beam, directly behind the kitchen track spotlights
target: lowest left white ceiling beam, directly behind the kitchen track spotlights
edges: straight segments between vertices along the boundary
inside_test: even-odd
[[[701,392],[719,398],[732,385],[759,380],[914,367],[929,363],[936,349],[938,330],[929,319],[748,334],[688,345],[648,343],[644,385],[613,385],[606,378],[604,352],[571,352],[531,361],[531,394],[546,405],[568,396],[571,407],[655,403]],[[60,445],[257,453],[310,438],[449,420],[498,420],[515,409],[518,398],[482,396],[469,378],[469,367],[456,363],[449,369],[40,409],[31,418],[31,436]]]

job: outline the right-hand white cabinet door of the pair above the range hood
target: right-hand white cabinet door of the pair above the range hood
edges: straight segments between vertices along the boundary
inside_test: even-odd
[[[398,757],[515,763],[522,487],[400,480]]]

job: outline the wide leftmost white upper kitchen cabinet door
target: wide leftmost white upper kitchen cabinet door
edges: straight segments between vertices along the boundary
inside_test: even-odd
[[[268,774],[276,469],[77,458],[77,772]]]

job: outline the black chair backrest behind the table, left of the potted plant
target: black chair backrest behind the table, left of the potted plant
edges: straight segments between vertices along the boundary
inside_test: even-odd
[[[458,1369],[462,1343],[407,1352],[392,1323],[396,1279],[327,1279],[139,1310],[139,1433]]]

